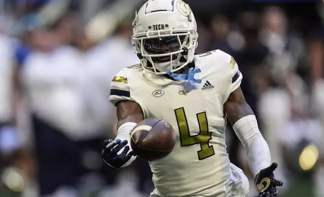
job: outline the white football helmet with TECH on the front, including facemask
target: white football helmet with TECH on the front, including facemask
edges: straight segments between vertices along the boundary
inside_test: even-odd
[[[175,72],[193,61],[197,23],[181,0],[149,0],[136,12],[132,44],[150,73]]]

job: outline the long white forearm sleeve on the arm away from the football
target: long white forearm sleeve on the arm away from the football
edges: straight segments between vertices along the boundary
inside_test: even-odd
[[[271,155],[267,142],[260,133],[254,115],[239,119],[233,129],[248,152],[249,167],[254,176],[271,165]]]

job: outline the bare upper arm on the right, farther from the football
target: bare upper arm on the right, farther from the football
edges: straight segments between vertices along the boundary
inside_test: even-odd
[[[254,115],[251,107],[245,101],[240,87],[232,91],[224,104],[224,110],[229,122],[234,125],[239,119]]]

